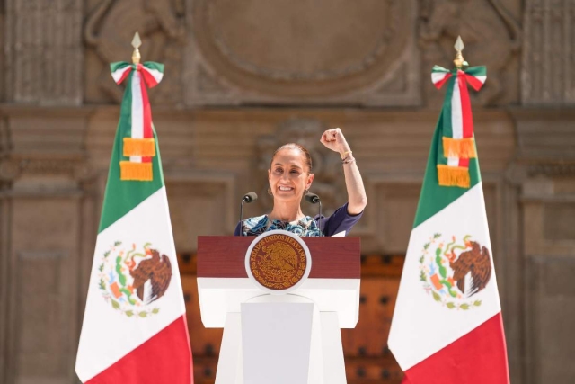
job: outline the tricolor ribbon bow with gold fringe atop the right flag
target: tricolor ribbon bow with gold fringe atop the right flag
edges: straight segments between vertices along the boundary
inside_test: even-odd
[[[452,71],[435,66],[431,81],[439,89],[447,83],[441,123],[442,140],[438,145],[438,182],[444,186],[469,188],[469,159],[477,157],[473,137],[473,116],[467,84],[479,91],[485,83],[486,69],[468,67]]]

